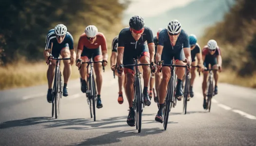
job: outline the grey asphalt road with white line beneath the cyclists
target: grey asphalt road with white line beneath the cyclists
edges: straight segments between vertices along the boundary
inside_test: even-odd
[[[166,131],[155,121],[153,101],[143,110],[141,133],[126,123],[127,100],[118,104],[112,72],[103,76],[103,108],[96,110],[96,122],[79,79],[68,84],[58,119],[51,118],[47,85],[0,91],[0,146],[256,146],[256,90],[219,84],[209,113],[202,107],[201,82],[197,76],[186,115],[183,102],[177,102]]]

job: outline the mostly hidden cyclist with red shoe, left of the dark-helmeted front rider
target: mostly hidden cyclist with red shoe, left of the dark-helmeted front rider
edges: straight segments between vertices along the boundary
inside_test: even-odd
[[[115,71],[115,74],[118,75],[117,70],[116,70],[116,64],[117,64],[117,54],[118,53],[118,36],[114,37],[112,41],[112,54],[110,57],[110,64],[111,64],[111,70]],[[119,92],[118,92],[118,103],[122,104],[123,103],[123,92],[122,92],[122,86],[124,86],[124,74],[121,76],[118,76],[118,86],[119,86]]]

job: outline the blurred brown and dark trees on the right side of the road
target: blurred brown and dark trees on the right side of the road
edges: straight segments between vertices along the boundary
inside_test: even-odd
[[[216,39],[221,47],[223,66],[239,76],[256,72],[256,0],[236,0],[223,21],[209,27],[200,43]]]

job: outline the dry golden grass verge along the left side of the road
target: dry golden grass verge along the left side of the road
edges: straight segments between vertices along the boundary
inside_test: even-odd
[[[105,71],[110,69],[111,50],[108,50],[108,54],[108,66],[105,67]],[[48,66],[44,61],[36,63],[19,61],[19,63],[9,64],[7,67],[0,67],[0,90],[46,84],[47,69]],[[63,73],[63,62],[61,62],[60,70]],[[70,78],[74,79],[79,76],[78,67],[74,64]]]

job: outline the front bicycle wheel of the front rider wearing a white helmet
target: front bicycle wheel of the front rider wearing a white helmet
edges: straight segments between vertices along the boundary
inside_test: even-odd
[[[168,88],[167,88],[167,93],[166,93],[166,100],[165,100],[165,111],[164,111],[164,130],[166,130],[167,128],[167,124],[168,124],[168,118],[169,118],[169,112],[171,109],[171,98],[173,96],[173,76],[171,76],[170,81],[168,83]]]

